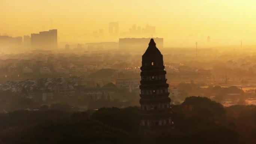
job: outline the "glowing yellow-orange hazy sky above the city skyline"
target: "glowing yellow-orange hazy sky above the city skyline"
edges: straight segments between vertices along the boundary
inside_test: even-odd
[[[189,34],[197,33],[194,39],[209,34],[213,40],[252,45],[255,7],[255,0],[0,0],[0,33],[23,36],[57,28],[59,42],[75,42],[74,37],[101,28],[108,34],[109,22],[118,21],[120,32],[132,24],[153,25],[172,43],[190,42]]]

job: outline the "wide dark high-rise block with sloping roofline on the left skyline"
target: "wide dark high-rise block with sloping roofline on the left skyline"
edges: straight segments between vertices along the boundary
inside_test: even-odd
[[[39,34],[31,34],[31,45],[42,49],[58,47],[57,30],[40,31]]]

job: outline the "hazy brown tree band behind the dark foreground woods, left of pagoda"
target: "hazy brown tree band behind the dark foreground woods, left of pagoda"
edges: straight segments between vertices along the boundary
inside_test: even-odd
[[[94,98],[97,97],[93,95]],[[86,96],[54,96],[52,101],[58,101],[56,104],[51,104],[49,101],[36,101],[25,97],[20,93],[15,93],[10,90],[0,91],[0,113],[9,113],[17,110],[60,110],[60,111],[78,111],[84,110],[89,106],[89,109],[97,109],[100,107],[128,107],[130,105],[138,105],[138,98],[134,92],[129,92],[127,89],[119,89],[116,94],[111,94],[111,101],[95,98],[94,102],[90,103],[90,95]],[[117,98],[116,98],[117,97]],[[120,99],[118,99],[120,98]],[[123,102],[122,99],[129,101]],[[96,100],[97,99],[97,100]],[[82,107],[82,108],[81,108]]]

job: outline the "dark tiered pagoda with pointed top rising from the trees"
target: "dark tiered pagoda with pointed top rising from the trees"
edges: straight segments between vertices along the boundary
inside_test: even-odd
[[[153,39],[142,55],[140,85],[141,122],[144,127],[171,126],[171,108],[163,55]]]

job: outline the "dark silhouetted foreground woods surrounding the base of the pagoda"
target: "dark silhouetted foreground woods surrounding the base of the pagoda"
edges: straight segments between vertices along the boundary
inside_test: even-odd
[[[0,144],[254,144],[256,106],[224,108],[191,96],[172,105],[174,128],[143,130],[140,108],[14,111],[0,115]]]

